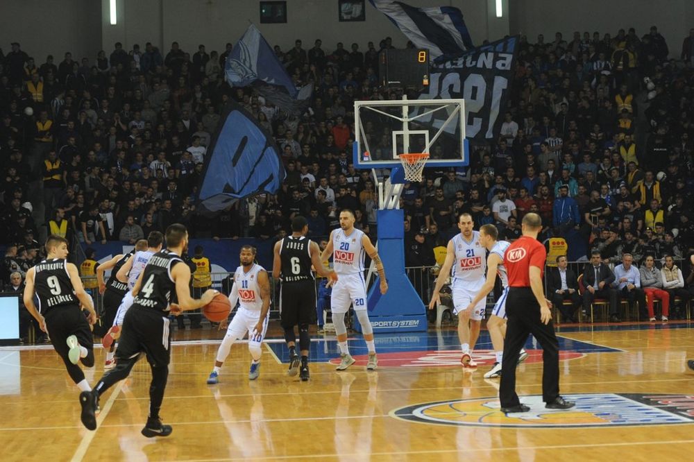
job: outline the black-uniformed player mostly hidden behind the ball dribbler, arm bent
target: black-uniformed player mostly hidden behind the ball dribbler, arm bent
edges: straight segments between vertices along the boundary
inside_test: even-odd
[[[138,251],[147,250],[147,240],[140,239],[135,243],[135,248],[125,255],[116,255],[108,262],[96,267],[96,280],[99,282],[99,293],[103,295],[103,316],[101,316],[101,327],[99,336],[104,336],[113,325],[113,320],[116,318],[118,307],[121,306],[126,292],[128,291],[128,280],[119,280],[117,277],[118,270],[128,262],[130,257]],[[104,282],[103,274],[106,270],[111,270],[111,275],[108,281]],[[112,369],[116,365],[114,359],[114,351],[116,349],[115,342],[111,343],[108,352],[106,353],[106,361],[103,365],[104,370]]]

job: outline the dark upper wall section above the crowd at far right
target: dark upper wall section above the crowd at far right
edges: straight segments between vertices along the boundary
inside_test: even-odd
[[[535,42],[538,34],[551,42],[556,32],[571,40],[574,31],[598,31],[613,37],[620,28],[636,28],[641,37],[650,26],[666,38],[670,55],[679,57],[682,39],[694,26],[692,0],[514,0],[510,5],[510,31],[521,33]],[[673,53],[674,52],[674,53]]]

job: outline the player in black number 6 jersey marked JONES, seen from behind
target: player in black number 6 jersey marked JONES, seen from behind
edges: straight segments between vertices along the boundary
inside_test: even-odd
[[[272,275],[281,277],[280,317],[282,329],[285,330],[285,341],[289,348],[289,370],[287,374],[296,375],[299,369],[299,357],[296,354],[296,332],[299,326],[299,348],[301,349],[301,380],[309,378],[308,350],[311,337],[308,326],[316,319],[316,281],[311,266],[323,277],[332,282],[337,281],[337,274],[321,264],[321,249],[318,244],[307,239],[308,224],[303,216],[291,220],[291,236],[275,244],[275,258],[272,264]]]

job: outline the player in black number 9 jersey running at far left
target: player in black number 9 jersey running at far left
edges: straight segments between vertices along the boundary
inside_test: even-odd
[[[24,306],[49,334],[65,363],[67,373],[81,391],[90,391],[79,361],[94,366],[94,339],[90,324],[96,322],[94,302],[82,286],[77,266],[67,262],[67,239],[51,235],[46,240],[46,259],[26,272]],[[34,305],[34,294],[39,307]],[[89,311],[89,318],[80,309]]]

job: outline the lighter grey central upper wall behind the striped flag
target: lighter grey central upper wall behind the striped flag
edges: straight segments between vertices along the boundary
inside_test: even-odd
[[[505,4],[508,0],[504,0]],[[287,51],[294,40],[301,39],[305,49],[313,46],[316,38],[323,40],[326,51],[335,49],[337,42],[346,48],[357,42],[362,51],[366,44],[377,44],[390,36],[393,44],[405,46],[407,39],[384,15],[366,1],[366,21],[339,22],[337,0],[287,1],[287,24],[260,24],[259,1],[248,0],[117,0],[119,16],[124,23],[108,24],[108,0],[103,6],[103,46],[110,51],[116,41],[130,49],[150,41],[163,53],[176,40],[189,53],[197,51],[198,44],[205,44],[208,53],[223,51],[226,42],[236,42],[248,27],[249,21],[260,28],[270,44],[278,44]],[[410,0],[412,6],[432,6],[431,0]],[[508,33],[508,16],[494,16],[494,0],[443,0],[441,5],[457,6],[465,16],[473,40],[482,42],[487,37],[500,38]],[[491,4],[491,10],[489,5]]]

